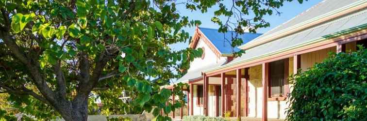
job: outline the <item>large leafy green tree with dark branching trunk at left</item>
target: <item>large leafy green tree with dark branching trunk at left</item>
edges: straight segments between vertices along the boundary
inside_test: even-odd
[[[206,13],[217,4],[212,21],[221,32],[235,30],[228,41],[237,46],[243,27],[255,32],[269,26],[263,16],[284,0],[231,2],[226,7],[219,0],[0,0],[0,91],[9,94],[11,105],[37,119],[86,121],[91,95],[98,95],[105,112],[153,109],[158,120],[168,120],[159,111],[180,107],[165,104],[172,93],[181,100],[179,90],[187,85],[178,84],[174,91],[160,87],[202,53],[169,48],[189,39],[183,27],[200,24],[181,16],[176,5]],[[218,16],[228,19],[222,22]],[[118,99],[124,90],[133,103]]]

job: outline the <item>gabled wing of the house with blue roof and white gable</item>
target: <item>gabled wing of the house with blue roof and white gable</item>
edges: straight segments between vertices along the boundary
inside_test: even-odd
[[[203,70],[208,70],[213,67],[219,67],[221,65],[224,65],[230,61],[232,61],[233,55],[232,53],[234,51],[239,51],[239,48],[232,47],[231,43],[227,40],[232,39],[232,34],[235,34],[234,31],[228,31],[226,33],[220,33],[216,29],[209,29],[209,28],[200,28],[197,27],[195,29],[194,38],[192,39],[192,42],[190,43],[189,47],[198,49],[201,48],[203,50],[203,54],[201,58],[196,58],[194,61],[191,62],[190,68],[186,70],[186,74],[182,76],[180,79],[174,81],[174,84],[182,82],[182,83],[195,83],[195,90],[197,88],[200,88],[199,90],[202,90],[203,88],[203,80],[201,72]],[[261,34],[253,34],[249,32],[245,32],[244,34],[238,36],[238,38],[241,38],[243,40],[243,44],[250,42],[254,38],[260,36]],[[216,78],[211,78],[216,79]],[[217,79],[219,82],[219,79]],[[219,85],[219,83],[217,83]],[[172,85],[171,85],[172,86]],[[167,89],[171,89],[171,86],[167,86]],[[195,91],[201,92],[199,95],[201,95],[201,98],[198,98],[195,94],[195,102],[198,103],[198,105],[193,106],[193,114],[195,115],[204,115],[203,114],[203,94],[202,91]],[[187,93],[187,91],[186,91]],[[192,98],[188,98],[192,99]],[[214,104],[213,104],[214,105]],[[183,109],[181,109],[183,110]],[[214,111],[214,110],[213,110]],[[212,111],[212,112],[213,112]],[[188,110],[181,111],[184,112],[184,114],[187,115]],[[179,112],[176,111],[176,116],[179,114]],[[172,117],[175,118],[175,114],[170,114]],[[214,116],[214,115],[213,115]],[[182,118],[182,117],[181,117]]]

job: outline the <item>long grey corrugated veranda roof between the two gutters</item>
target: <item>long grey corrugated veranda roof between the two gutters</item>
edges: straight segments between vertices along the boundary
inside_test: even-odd
[[[282,49],[312,42],[313,40],[325,37],[326,35],[362,25],[367,25],[367,9],[338,19],[334,19],[333,21],[300,31],[284,38],[280,38],[269,43],[250,48],[246,50],[246,53],[243,54],[241,57],[229,62],[228,65],[239,61],[250,60],[269,53],[280,51]]]

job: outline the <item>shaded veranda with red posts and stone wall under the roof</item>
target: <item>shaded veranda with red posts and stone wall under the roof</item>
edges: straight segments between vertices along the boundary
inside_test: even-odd
[[[254,61],[220,73],[203,74],[188,82],[190,87],[184,91],[188,95],[187,104],[182,108],[187,114],[182,116],[225,117],[227,114],[241,121],[284,121],[285,108],[289,105],[286,104],[287,96],[292,91],[289,76],[297,74],[298,69],[308,70],[326,59],[330,52],[356,51],[356,45],[366,47],[366,42],[366,39],[335,42]],[[180,113],[176,110],[175,116],[173,113],[171,116],[181,119]]]

